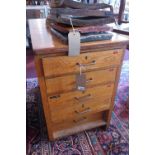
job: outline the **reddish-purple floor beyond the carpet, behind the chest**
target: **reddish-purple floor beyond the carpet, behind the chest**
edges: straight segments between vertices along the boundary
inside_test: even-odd
[[[129,50],[125,51],[124,60],[129,60]],[[31,49],[26,50],[26,78],[37,77],[34,65],[34,54]]]

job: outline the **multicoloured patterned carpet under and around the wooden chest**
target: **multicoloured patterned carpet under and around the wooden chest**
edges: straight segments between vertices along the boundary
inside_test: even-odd
[[[37,78],[26,80],[27,155],[128,155],[129,62],[124,61],[109,128],[83,131],[48,141]]]

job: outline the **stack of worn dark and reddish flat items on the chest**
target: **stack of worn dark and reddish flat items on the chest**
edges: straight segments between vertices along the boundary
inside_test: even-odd
[[[81,42],[110,40],[115,18],[111,5],[105,3],[85,4],[72,0],[52,0],[47,27],[64,43],[68,43],[68,33],[80,32]]]

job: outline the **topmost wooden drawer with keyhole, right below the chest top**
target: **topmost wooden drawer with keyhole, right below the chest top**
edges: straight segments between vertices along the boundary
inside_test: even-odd
[[[45,77],[54,77],[64,74],[79,73],[80,65],[83,71],[119,65],[123,50],[108,50],[84,53],[79,56],[57,56],[42,58]]]

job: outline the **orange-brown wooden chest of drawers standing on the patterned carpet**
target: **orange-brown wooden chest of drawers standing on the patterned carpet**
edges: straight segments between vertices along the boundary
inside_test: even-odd
[[[109,126],[128,38],[81,44],[79,56],[48,32],[44,19],[29,21],[35,65],[50,140],[98,126]],[[79,64],[86,89],[76,89]]]

